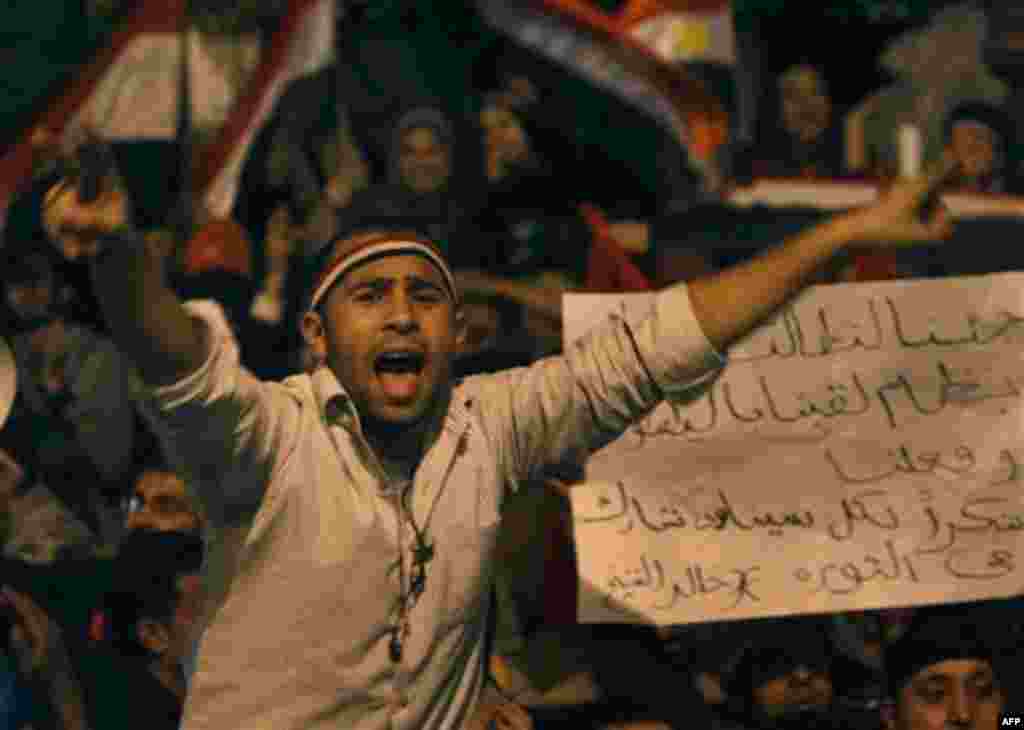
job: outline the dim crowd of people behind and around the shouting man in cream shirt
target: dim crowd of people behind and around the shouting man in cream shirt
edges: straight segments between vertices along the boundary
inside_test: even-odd
[[[481,74],[481,87],[467,90],[472,116],[415,90],[374,98],[341,60],[303,77],[253,146],[233,218],[198,211],[186,233],[153,226],[150,254],[181,299],[230,333],[242,363],[270,380],[319,364],[300,329],[317,253],[361,230],[411,230],[440,249],[468,326],[458,377],[559,353],[566,292],[653,290],[730,261],[734,252],[677,235],[692,211],[726,208],[724,192],[709,201],[694,184],[687,205],[674,195],[671,211],[624,216],[628,172],[579,154],[564,135],[571,124],[552,119],[557,91],[528,69]],[[843,119],[820,71],[793,67],[774,91],[757,145],[719,157],[729,180],[721,190],[752,177],[863,179],[848,169]],[[947,189],[1024,189],[1015,128],[990,103],[956,106],[943,127],[957,172]],[[208,576],[234,569],[204,548],[230,520],[204,513],[140,412],[145,386],[101,313],[90,242],[54,214],[71,173],[41,167],[8,216],[0,265],[17,373],[0,431],[0,730],[177,728],[216,605],[208,594],[227,590]],[[130,198],[131,180],[117,184]],[[840,257],[817,281],[955,273],[931,258],[877,256],[881,265]],[[503,514],[481,703],[502,710],[466,727],[991,730],[1001,713],[1024,707],[1014,703],[1024,697],[1017,598],[575,626],[556,598],[574,581],[566,490],[581,479],[582,465],[567,465]]]

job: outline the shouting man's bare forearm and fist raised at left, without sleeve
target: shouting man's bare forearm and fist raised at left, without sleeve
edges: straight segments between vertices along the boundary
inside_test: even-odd
[[[91,254],[103,316],[146,384],[176,382],[202,364],[202,328],[168,286],[162,253],[129,228],[121,191],[85,204],[77,187],[58,183],[45,197],[43,223],[52,239],[78,237]]]

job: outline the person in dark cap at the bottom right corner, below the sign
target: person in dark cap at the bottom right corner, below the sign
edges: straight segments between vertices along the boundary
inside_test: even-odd
[[[964,606],[919,609],[886,649],[893,712],[888,730],[995,730],[1020,654],[1000,663],[977,614]],[[1020,647],[1018,647],[1019,649]],[[1011,663],[1012,662],[1012,663]],[[1013,697],[1017,699],[1017,697]]]

